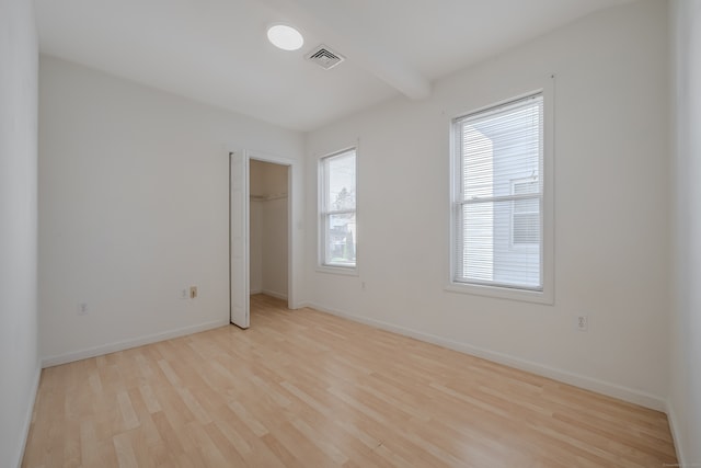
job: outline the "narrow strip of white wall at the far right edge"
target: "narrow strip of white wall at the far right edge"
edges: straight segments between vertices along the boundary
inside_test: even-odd
[[[671,2],[675,264],[669,414],[683,466],[701,464],[701,1]]]

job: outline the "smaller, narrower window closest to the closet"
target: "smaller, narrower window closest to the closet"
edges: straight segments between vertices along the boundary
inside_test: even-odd
[[[356,267],[356,150],[320,161],[321,266]]]

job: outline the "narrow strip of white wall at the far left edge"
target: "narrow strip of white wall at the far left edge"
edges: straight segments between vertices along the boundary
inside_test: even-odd
[[[38,385],[37,35],[32,2],[0,0],[0,465],[20,465]]]

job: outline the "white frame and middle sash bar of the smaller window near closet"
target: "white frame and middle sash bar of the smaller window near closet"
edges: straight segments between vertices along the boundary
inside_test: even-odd
[[[327,173],[327,169],[326,169],[326,162],[331,159],[341,157],[341,156],[345,156],[348,152],[354,152],[354,157],[355,157],[355,193],[356,193],[356,198],[355,198],[355,209],[342,209],[342,210],[330,210],[326,207],[327,204],[327,180],[329,180],[329,173]],[[317,196],[317,203],[318,203],[318,216],[317,216],[317,222],[318,222],[318,259],[317,259],[317,271],[319,272],[323,272],[323,273],[335,273],[335,274],[341,274],[341,275],[352,275],[352,276],[357,276],[358,275],[358,147],[357,146],[353,146],[353,147],[348,147],[348,148],[344,148],[341,149],[338,151],[334,151],[327,155],[324,155],[322,157],[319,158],[318,160],[318,164],[317,164],[317,180],[318,180],[318,196]],[[341,263],[327,263],[326,262],[326,253],[327,253],[327,238],[329,238],[329,233],[327,233],[327,219],[330,216],[332,215],[338,215],[338,214],[349,214],[349,213],[354,213],[355,214],[355,224],[356,224],[356,231],[355,231],[355,236],[354,236],[354,240],[355,240],[355,264],[350,265],[350,264],[341,264]]]

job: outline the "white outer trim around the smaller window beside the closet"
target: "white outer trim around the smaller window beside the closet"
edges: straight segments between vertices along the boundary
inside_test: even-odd
[[[346,276],[358,276],[358,264],[359,264],[359,242],[358,242],[358,229],[356,228],[355,236],[355,266],[342,266],[342,265],[327,265],[324,263],[326,256],[326,229],[325,229],[325,218],[324,218],[324,206],[322,196],[325,196],[325,184],[324,184],[324,170],[323,170],[323,161],[327,158],[333,158],[334,156],[343,155],[344,152],[355,151],[355,190],[356,190],[356,201],[355,201],[355,220],[356,225],[358,225],[358,146],[350,146],[338,151],[330,152],[327,155],[321,156],[317,161],[317,272],[319,273],[331,273],[336,275],[346,275]],[[323,176],[322,176],[323,175]]]

